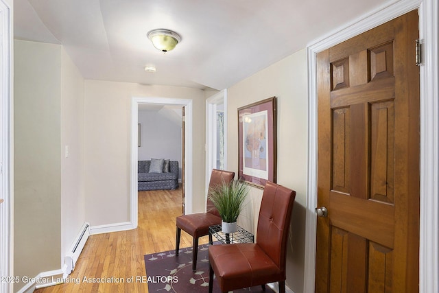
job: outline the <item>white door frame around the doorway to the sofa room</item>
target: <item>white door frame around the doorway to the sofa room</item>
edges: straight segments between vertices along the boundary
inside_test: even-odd
[[[139,119],[139,104],[176,105],[186,107],[186,139],[185,139],[185,176],[192,176],[192,99],[174,99],[167,97],[132,97],[131,104],[131,185],[130,185],[130,220],[132,228],[137,228],[139,202],[137,201],[137,161],[139,158],[137,146],[137,123]],[[192,180],[185,180],[185,213],[192,213]]]

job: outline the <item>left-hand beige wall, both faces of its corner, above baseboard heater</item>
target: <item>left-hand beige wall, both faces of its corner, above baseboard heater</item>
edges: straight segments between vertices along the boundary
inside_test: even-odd
[[[14,60],[14,276],[32,278],[85,221],[84,79],[60,45],[15,40]]]

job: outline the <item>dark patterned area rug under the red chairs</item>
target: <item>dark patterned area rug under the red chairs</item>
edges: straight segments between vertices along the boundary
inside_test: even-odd
[[[181,248],[178,255],[175,250],[145,255],[145,268],[148,292],[198,293],[209,292],[209,244],[198,247],[197,270],[192,270],[192,248]],[[254,286],[233,292],[274,292],[270,287]],[[213,281],[213,292],[220,293],[217,281]]]

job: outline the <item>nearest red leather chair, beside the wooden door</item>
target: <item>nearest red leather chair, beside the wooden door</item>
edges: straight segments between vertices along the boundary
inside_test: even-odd
[[[285,254],[296,191],[267,182],[263,191],[257,242],[209,246],[209,292],[213,274],[222,292],[278,282],[285,292]]]

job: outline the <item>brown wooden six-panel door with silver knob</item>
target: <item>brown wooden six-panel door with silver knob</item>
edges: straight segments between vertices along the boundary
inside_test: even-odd
[[[418,14],[318,54],[316,292],[418,292]]]

